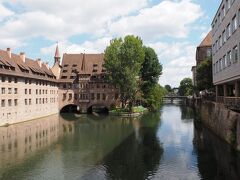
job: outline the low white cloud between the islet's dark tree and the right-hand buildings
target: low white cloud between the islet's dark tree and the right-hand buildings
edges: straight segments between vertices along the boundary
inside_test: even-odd
[[[196,46],[189,42],[182,43],[150,43],[163,64],[163,75],[160,84],[178,87],[179,82],[192,76],[191,67],[195,64]]]

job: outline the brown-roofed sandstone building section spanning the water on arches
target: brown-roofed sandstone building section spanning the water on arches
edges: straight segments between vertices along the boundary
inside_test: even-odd
[[[57,55],[58,56],[58,55]],[[59,78],[59,109],[72,105],[80,112],[117,104],[116,89],[105,81],[104,54],[64,54]]]

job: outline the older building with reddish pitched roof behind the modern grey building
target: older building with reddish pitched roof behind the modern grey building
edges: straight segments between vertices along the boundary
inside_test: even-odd
[[[212,32],[210,31],[196,49],[196,66],[192,67],[193,85],[197,85],[197,67],[204,60],[212,57]]]

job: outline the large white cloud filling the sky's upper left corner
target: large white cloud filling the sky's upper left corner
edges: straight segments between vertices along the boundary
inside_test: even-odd
[[[26,39],[44,36],[49,40],[67,40],[76,34],[105,33],[107,24],[147,5],[147,0],[8,0],[12,6],[23,6],[16,14],[0,25],[1,37]]]

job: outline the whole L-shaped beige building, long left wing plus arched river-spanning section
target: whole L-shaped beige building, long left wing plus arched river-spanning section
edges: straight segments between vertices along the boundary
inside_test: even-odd
[[[116,89],[105,81],[104,54],[64,54],[58,46],[52,68],[24,53],[0,50],[0,126],[65,110],[86,113],[118,104]]]

